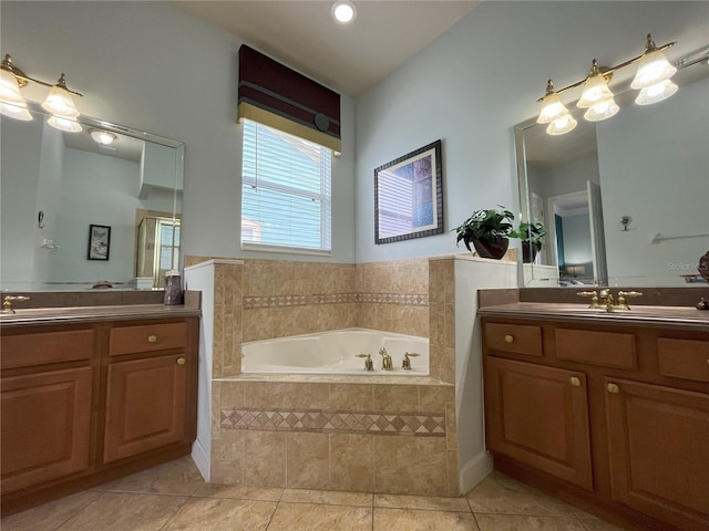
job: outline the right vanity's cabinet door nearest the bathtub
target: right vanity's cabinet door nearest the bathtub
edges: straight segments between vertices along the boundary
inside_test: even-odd
[[[584,373],[485,360],[490,450],[593,490]]]

